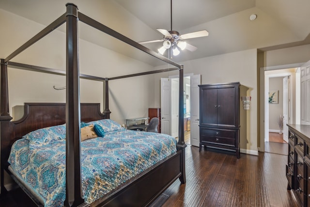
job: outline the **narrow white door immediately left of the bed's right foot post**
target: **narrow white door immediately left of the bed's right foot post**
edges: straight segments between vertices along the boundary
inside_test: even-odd
[[[171,79],[171,136],[179,136],[179,78]]]

